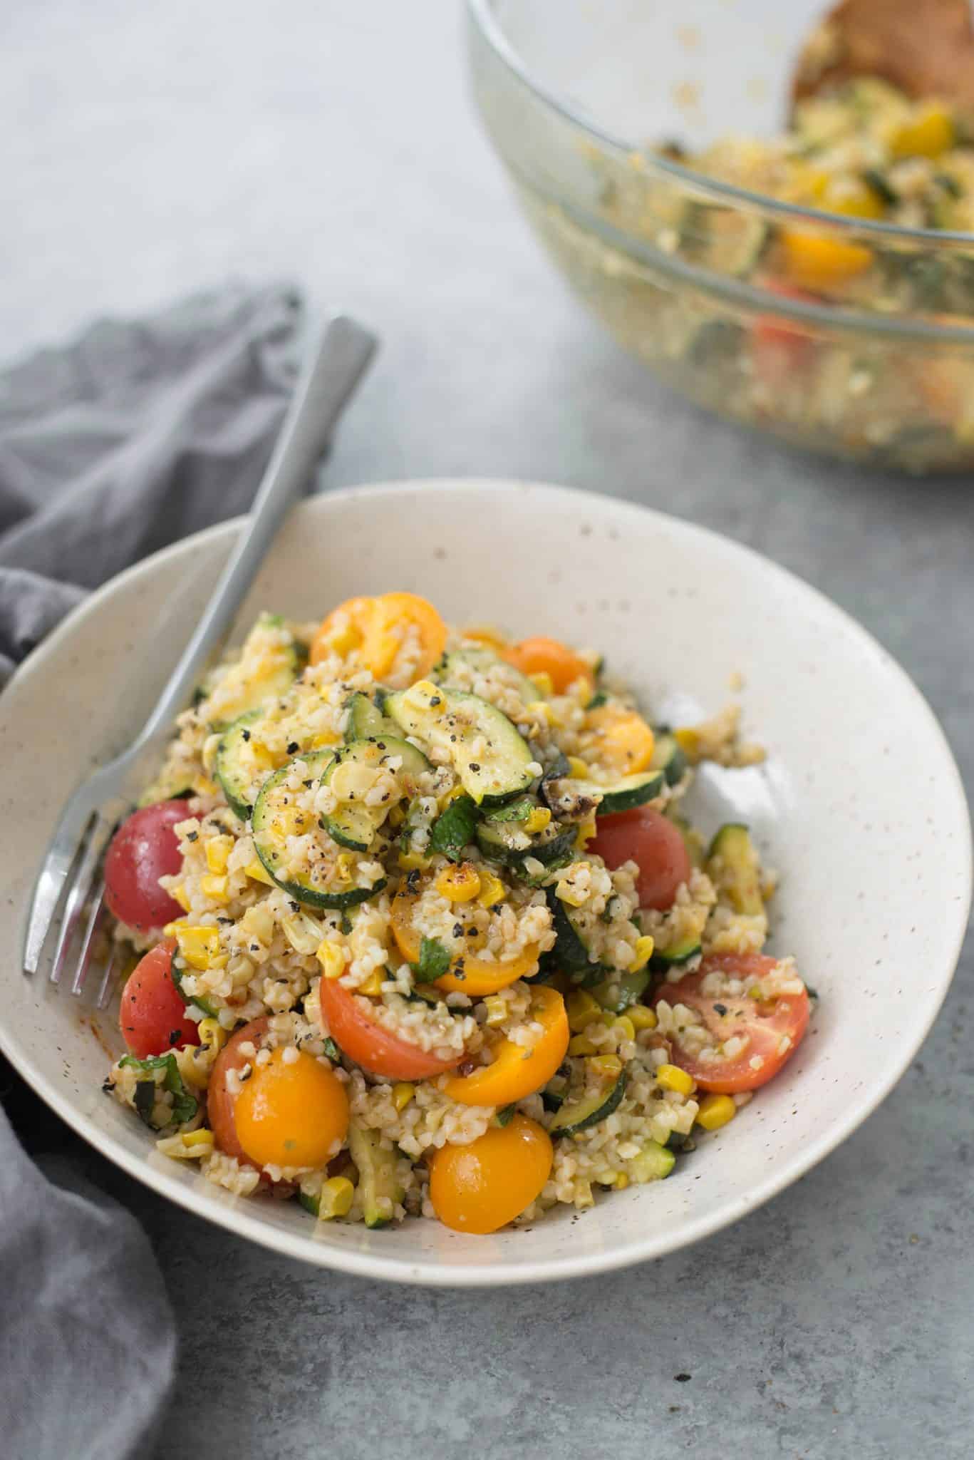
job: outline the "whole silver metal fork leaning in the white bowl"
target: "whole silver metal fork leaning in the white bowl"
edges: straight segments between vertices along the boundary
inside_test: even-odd
[[[25,974],[37,974],[63,904],[50,980],[61,983],[80,931],[72,993],[82,993],[102,921],[105,883],[101,863],[108,841],[131,810],[150,769],[155,769],[172,733],[172,720],[185,708],[202,669],[229,632],[277,529],[307,486],[375,345],[375,336],[345,315],[333,315],[318,328],[250,517],[155,710],[130,749],[99,766],[64,807],[34,888],[23,942]],[[95,1002],[99,1009],[108,1003],[111,993],[117,946],[112,943],[112,955],[98,988]]]

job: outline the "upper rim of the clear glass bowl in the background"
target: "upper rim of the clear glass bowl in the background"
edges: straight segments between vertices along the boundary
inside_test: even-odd
[[[902,223],[885,223],[875,218],[850,219],[845,213],[831,213],[824,207],[805,207],[802,203],[789,203],[784,199],[775,199],[770,193],[755,193],[751,188],[737,187],[735,182],[723,182],[720,178],[713,178],[705,172],[697,172],[694,168],[683,166],[670,158],[656,156],[654,153],[645,150],[645,145],[609,131],[583,107],[574,107],[565,96],[553,91],[545,82],[539,80],[532,67],[527,61],[524,61],[521,54],[504,32],[504,28],[495,13],[495,4],[496,0],[467,0],[467,10],[470,16],[498,58],[502,60],[511,72],[514,72],[518,80],[521,80],[529,91],[534,92],[540,101],[559,112],[567,121],[572,123],[572,126],[578,127],[580,131],[587,131],[590,136],[603,143],[603,146],[622,153],[622,156],[631,156],[634,153],[638,155],[645,161],[648,171],[670,174],[672,177],[689,184],[697,191],[710,193],[714,197],[730,199],[735,203],[748,203],[752,207],[762,209],[762,212],[778,213],[791,222],[827,222],[834,223],[837,229],[841,229],[843,232],[854,231],[856,234],[873,234],[879,238],[886,237],[897,239],[897,242],[905,241],[927,245],[961,244],[967,248],[974,244],[974,232],[948,228],[905,228]]]

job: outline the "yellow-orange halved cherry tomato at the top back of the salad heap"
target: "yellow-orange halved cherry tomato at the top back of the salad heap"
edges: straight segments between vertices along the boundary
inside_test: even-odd
[[[410,657],[410,682],[422,679],[442,657],[447,626],[432,603],[416,593],[383,593],[375,599],[346,599],[324,619],[311,642],[311,663],[329,654],[355,656],[375,679],[394,677],[404,635],[415,629],[418,654]]]

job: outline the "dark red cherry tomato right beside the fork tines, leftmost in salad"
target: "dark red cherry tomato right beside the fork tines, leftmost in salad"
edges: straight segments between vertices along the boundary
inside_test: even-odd
[[[105,902],[120,923],[152,933],[183,915],[159,886],[159,877],[183,867],[177,822],[190,815],[185,802],[156,802],[123,822],[105,856]]]

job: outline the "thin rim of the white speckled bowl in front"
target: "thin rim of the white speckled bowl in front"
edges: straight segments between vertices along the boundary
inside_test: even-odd
[[[793,1181],[797,1181],[799,1177],[810,1171],[848,1136],[851,1136],[853,1132],[857,1130],[859,1126],[879,1107],[879,1104],[902,1077],[916,1051],[926,1038],[933,1021],[940,1012],[956,969],[967,933],[971,894],[974,891],[970,812],[964,783],[946,734],[943,733],[943,729],[930,704],[894,656],[889,654],[889,651],[885,650],[879,641],[875,639],[873,635],[869,634],[869,631],[864,629],[850,613],[841,609],[812,584],[756,552],[753,548],[739,543],[723,533],[704,527],[698,523],[675,517],[669,512],[662,512],[656,508],[626,501],[625,498],[606,496],[605,493],[588,492],[572,486],[556,486],[553,483],[495,477],[423,477],[416,480],[400,479],[346,486],[312,496],[301,502],[296,511],[310,515],[315,515],[317,512],[327,514],[329,504],[331,501],[349,501],[372,495],[415,496],[416,492],[442,491],[444,488],[454,491],[478,488],[489,489],[492,492],[515,493],[529,489],[537,495],[549,495],[552,498],[552,507],[558,501],[564,501],[565,496],[570,496],[574,502],[587,504],[591,512],[605,512],[606,504],[609,504],[609,510],[624,518],[628,517],[644,521],[648,515],[659,524],[666,526],[669,531],[676,529],[678,533],[685,534],[691,545],[695,540],[705,542],[711,550],[716,549],[718,553],[732,558],[743,558],[752,568],[756,568],[756,571],[764,574],[770,583],[777,581],[790,591],[797,588],[803,596],[810,596],[812,602],[816,603],[819,609],[824,609],[828,616],[837,622],[837,626],[851,635],[851,638],[856,639],[863,648],[867,648],[870,653],[878,653],[882,657],[886,670],[898,680],[904,695],[913,702],[917,715],[926,723],[927,733],[930,734],[930,745],[939,752],[942,766],[940,774],[952,781],[952,790],[959,807],[962,807],[964,815],[959,816],[959,829],[962,835],[958,841],[958,857],[962,863],[962,882],[967,886],[967,896],[952,904],[952,910],[955,908],[956,911],[952,911],[945,918],[946,923],[955,920],[956,926],[951,937],[951,955],[943,961],[936,990],[930,991],[929,1004],[923,1018],[914,1025],[910,1041],[904,1042],[898,1058],[894,1060],[885,1076],[878,1079],[857,1104],[850,1104],[841,1120],[834,1121],[818,1139],[806,1142],[790,1161],[780,1162],[765,1180],[759,1181],[748,1191],[742,1191],[735,1199],[726,1200],[714,1212],[704,1212],[694,1218],[688,1218],[685,1228],[679,1234],[679,1241],[660,1241],[650,1231],[647,1235],[637,1235],[632,1241],[619,1244],[609,1251],[580,1254],[578,1257],[536,1260],[524,1263],[518,1267],[504,1267],[491,1261],[469,1263],[463,1267],[448,1267],[435,1260],[407,1260],[381,1253],[368,1254],[352,1248],[343,1250],[340,1247],[320,1245],[315,1244],[311,1237],[295,1237],[294,1234],[264,1222],[260,1212],[254,1212],[251,1215],[245,1203],[225,1206],[219,1200],[215,1200],[209,1193],[203,1193],[196,1187],[183,1186],[175,1177],[169,1177],[165,1169],[156,1169],[149,1164],[146,1155],[137,1155],[129,1150],[114,1136],[98,1132],[93,1127],[92,1120],[82,1110],[76,1108],[73,1102],[60,1092],[55,1082],[48,1080],[47,1076],[34,1064],[31,1057],[19,1048],[16,1032],[4,1023],[3,1018],[0,1018],[0,1051],[3,1051],[3,1054],[10,1060],[13,1067],[26,1080],[31,1089],[39,1095],[39,1098],[44,1099],[44,1102],[57,1115],[60,1115],[61,1120],[64,1120],[64,1123],[76,1132],[76,1134],[85,1139],[102,1156],[126,1171],[127,1175],[152,1188],[158,1194],[177,1202],[177,1204],[183,1206],[194,1216],[202,1216],[237,1237],[248,1237],[251,1241],[256,1241],[263,1247],[269,1247],[282,1256],[299,1259],[324,1269],[349,1272],[356,1276],[437,1288],[480,1288],[558,1282],[568,1278],[584,1278],[596,1273],[612,1272],[621,1267],[629,1267],[637,1263],[648,1261],[654,1257],[663,1257],[672,1251],[679,1251],[683,1247],[689,1247],[697,1241],[714,1235],[732,1222],[736,1222],[742,1216],[764,1206],[765,1202],[770,1202],[774,1196],[786,1190],[786,1187],[791,1186]],[[25,669],[31,669],[31,672],[34,672],[42,667],[45,660],[66,639],[83,628],[85,620],[95,613],[108,597],[117,593],[121,587],[130,584],[133,580],[137,580],[149,565],[155,566],[158,564],[175,561],[181,555],[193,552],[194,548],[203,543],[221,539],[229,540],[239,530],[242,521],[244,518],[235,517],[207,527],[199,533],[193,533],[188,537],[171,543],[168,548],[164,548],[156,553],[150,553],[147,558],[133,564],[121,574],[110,578],[108,583],[102,584],[76,609],[73,609],[53,631],[53,634],[50,634],[23,660],[15,672],[10,683],[15,683],[25,673]]]

